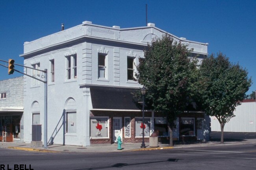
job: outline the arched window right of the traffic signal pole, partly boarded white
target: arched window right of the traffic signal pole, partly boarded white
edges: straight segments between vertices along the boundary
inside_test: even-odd
[[[69,98],[65,104],[66,133],[76,133],[76,101]]]

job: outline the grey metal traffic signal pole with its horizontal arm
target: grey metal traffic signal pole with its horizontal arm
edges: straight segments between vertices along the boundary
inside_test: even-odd
[[[4,60],[0,60],[0,61],[8,63],[7,61],[4,61]],[[13,63],[14,63],[14,60],[13,60]],[[32,68],[32,67],[23,66],[21,64],[15,64],[15,65],[22,66],[22,67],[25,67],[25,68],[35,69],[35,68]],[[0,66],[4,66],[4,65],[0,64]],[[4,67],[8,68],[7,66],[4,66]],[[45,93],[45,95],[44,95],[45,96],[45,98],[44,98],[44,148],[47,148],[47,69],[45,69],[45,70],[35,69],[35,70],[42,71],[43,73],[45,73],[45,80],[44,81],[41,80],[41,79],[37,79],[37,78],[35,78],[35,77],[31,76],[31,75],[28,75],[26,73],[22,73],[19,70],[14,69],[14,67],[13,67],[13,70],[18,72],[18,73],[21,73],[23,75],[26,75],[28,77],[31,77],[33,79],[36,79],[36,80],[39,80],[39,81],[45,83],[45,89],[44,89],[44,93]]]

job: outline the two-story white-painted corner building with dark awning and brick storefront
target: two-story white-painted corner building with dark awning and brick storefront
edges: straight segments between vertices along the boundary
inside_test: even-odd
[[[142,111],[134,104],[132,92],[142,86],[133,79],[135,65],[152,38],[165,34],[169,33],[151,23],[121,29],[85,21],[25,42],[20,55],[24,64],[48,69],[48,142],[89,146],[114,143],[118,136],[124,143],[141,142]],[[191,55],[199,55],[199,60],[207,55],[208,44],[171,36],[193,48]],[[45,76],[35,70],[24,71],[39,79]],[[25,142],[32,140],[32,124],[44,126],[43,110],[43,82],[24,76]],[[206,139],[204,127],[203,113],[186,113],[176,121],[174,138],[181,134]],[[169,134],[162,115],[147,110],[146,141],[154,130],[160,136]]]

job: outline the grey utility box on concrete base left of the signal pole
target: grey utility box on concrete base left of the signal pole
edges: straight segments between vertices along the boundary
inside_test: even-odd
[[[32,125],[32,141],[31,141],[31,147],[42,147],[42,125]]]

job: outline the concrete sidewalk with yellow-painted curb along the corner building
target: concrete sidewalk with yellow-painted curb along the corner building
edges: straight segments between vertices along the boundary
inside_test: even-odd
[[[145,143],[147,148],[140,148],[141,143],[124,143],[122,150],[117,150],[117,144],[94,145],[88,147],[70,146],[53,144],[48,145],[48,148],[34,148],[30,143],[15,143],[15,142],[0,142],[0,148],[9,148],[17,150],[35,151],[35,152],[124,152],[124,151],[143,151],[143,150],[162,150],[162,149],[175,149],[175,148],[197,148],[197,147],[210,147],[210,146],[226,146],[226,145],[241,145],[241,144],[256,144],[256,139],[242,139],[242,140],[224,140],[224,144],[219,141],[209,142],[190,142],[190,143],[174,143],[171,147],[168,144],[158,144],[159,147],[150,148],[149,143]]]

